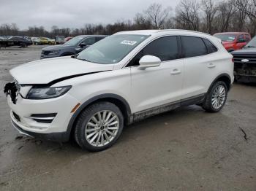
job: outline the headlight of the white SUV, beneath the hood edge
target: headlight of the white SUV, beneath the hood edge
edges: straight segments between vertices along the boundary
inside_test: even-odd
[[[49,99],[49,98],[57,98],[61,95],[67,93],[72,86],[63,86],[63,87],[32,87],[29,90],[28,95],[26,95],[27,99]]]

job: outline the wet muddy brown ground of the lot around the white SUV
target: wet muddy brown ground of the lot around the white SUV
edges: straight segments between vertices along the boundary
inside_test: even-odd
[[[256,190],[256,85],[235,84],[221,112],[187,106],[124,129],[103,152],[20,136],[8,71],[42,46],[0,50],[0,190]]]

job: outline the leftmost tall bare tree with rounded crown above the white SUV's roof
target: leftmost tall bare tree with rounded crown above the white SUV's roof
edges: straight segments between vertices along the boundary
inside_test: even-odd
[[[170,7],[162,9],[161,4],[151,4],[144,12],[148,20],[151,21],[153,28],[159,29],[163,28],[163,26],[165,25],[165,21],[170,15],[170,11]]]

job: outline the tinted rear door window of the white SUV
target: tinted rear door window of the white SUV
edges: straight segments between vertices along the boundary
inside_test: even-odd
[[[181,36],[181,44],[185,58],[208,54],[206,44],[199,37]]]

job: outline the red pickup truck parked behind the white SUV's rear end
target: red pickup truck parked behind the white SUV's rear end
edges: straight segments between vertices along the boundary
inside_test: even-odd
[[[251,40],[249,33],[242,32],[217,33],[214,36],[222,40],[222,44],[228,52],[240,50]]]

